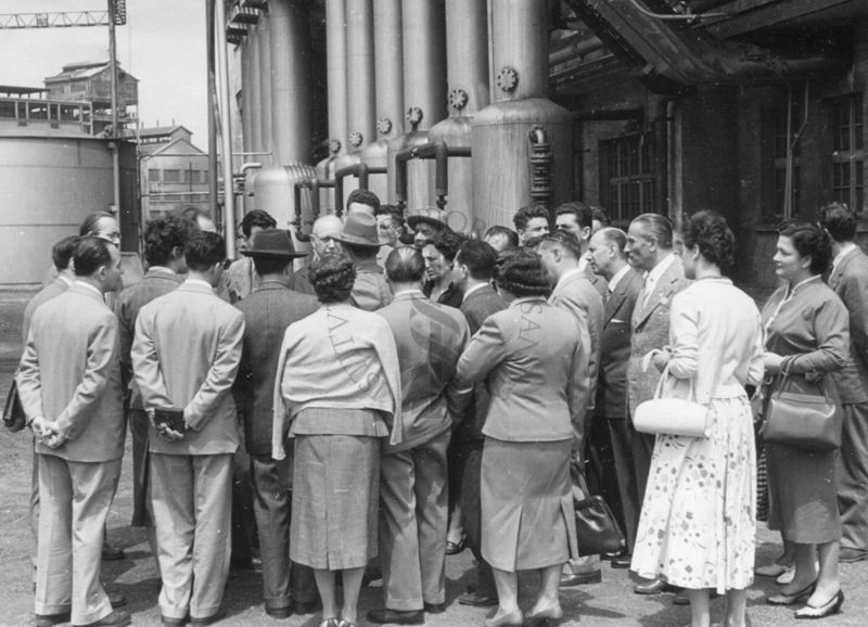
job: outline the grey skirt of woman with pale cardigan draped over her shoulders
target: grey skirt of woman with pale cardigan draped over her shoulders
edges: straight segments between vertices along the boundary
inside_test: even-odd
[[[290,556],[342,571],[376,556],[380,438],[296,435]]]

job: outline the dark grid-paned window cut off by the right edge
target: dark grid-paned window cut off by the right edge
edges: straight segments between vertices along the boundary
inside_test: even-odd
[[[860,93],[830,103],[832,197],[865,213],[865,127]]]

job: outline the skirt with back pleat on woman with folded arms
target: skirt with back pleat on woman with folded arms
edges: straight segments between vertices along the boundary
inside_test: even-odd
[[[482,554],[515,572],[578,556],[570,484],[572,440],[485,438],[482,453]]]

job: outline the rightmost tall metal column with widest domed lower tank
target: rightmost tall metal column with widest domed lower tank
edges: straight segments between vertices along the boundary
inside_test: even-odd
[[[546,98],[548,0],[492,2],[495,101],[472,123],[473,210],[480,229],[511,228],[513,214],[531,202],[529,133],[547,133],[553,157],[551,204],[573,192],[573,119]]]

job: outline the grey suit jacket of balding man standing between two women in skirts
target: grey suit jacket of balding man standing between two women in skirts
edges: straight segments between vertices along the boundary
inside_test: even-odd
[[[429,300],[421,291],[401,292],[378,311],[398,349],[404,439],[384,452],[408,450],[448,431],[463,412],[470,391],[454,385],[458,358],[470,341],[461,312]]]

